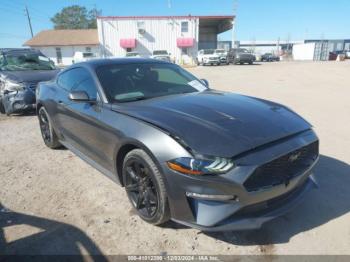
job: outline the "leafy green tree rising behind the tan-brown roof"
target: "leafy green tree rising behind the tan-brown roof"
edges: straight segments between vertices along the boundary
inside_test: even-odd
[[[55,29],[88,29],[97,28],[96,17],[101,11],[93,8],[87,10],[86,7],[72,5],[65,7],[61,12],[51,18]]]

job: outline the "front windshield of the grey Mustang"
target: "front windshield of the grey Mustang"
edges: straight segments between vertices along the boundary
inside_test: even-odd
[[[159,96],[200,92],[207,87],[174,64],[114,64],[96,69],[111,102],[130,102]]]

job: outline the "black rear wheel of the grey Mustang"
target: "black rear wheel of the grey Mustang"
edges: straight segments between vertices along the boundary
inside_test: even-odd
[[[44,107],[39,109],[38,118],[41,136],[45,145],[52,149],[61,147],[60,142],[58,142],[58,137],[52,128],[50,117]]]

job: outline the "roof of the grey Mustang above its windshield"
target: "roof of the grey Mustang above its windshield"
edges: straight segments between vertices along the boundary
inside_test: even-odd
[[[157,59],[151,59],[151,58],[134,58],[134,59],[104,58],[104,59],[93,59],[93,60],[89,60],[81,63],[76,63],[72,67],[84,66],[84,67],[90,67],[90,68],[96,69],[97,67],[105,66],[105,65],[126,65],[126,64],[169,64],[169,62],[157,60]]]

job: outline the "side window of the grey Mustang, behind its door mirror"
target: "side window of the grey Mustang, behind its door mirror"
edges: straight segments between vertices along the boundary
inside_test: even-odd
[[[85,91],[91,99],[96,99],[97,89],[90,73],[84,68],[74,68],[58,77],[58,84],[67,91]]]

